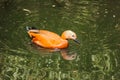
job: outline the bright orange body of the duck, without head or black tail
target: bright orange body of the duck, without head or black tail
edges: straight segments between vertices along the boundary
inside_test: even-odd
[[[32,35],[32,42],[44,48],[66,48],[68,41],[62,39],[59,35],[47,31],[39,30],[39,33],[29,32]]]

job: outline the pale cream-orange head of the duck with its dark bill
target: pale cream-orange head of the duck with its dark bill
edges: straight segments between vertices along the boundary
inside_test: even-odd
[[[71,31],[71,30],[66,30],[62,33],[61,37],[63,39],[71,39],[77,43],[80,43],[78,40],[77,40],[77,35],[75,34],[75,32]]]

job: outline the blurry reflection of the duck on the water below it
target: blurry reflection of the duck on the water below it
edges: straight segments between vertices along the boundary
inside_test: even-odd
[[[37,53],[40,53],[40,55],[42,56],[49,56],[55,52],[60,52],[62,58],[65,60],[74,60],[76,59],[76,56],[77,56],[76,52],[68,51],[68,49],[47,49],[35,44],[31,44],[31,45],[32,45],[32,48],[34,48],[34,50],[37,50]]]

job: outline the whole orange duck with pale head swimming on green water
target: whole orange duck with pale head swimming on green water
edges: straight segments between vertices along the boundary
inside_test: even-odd
[[[35,28],[26,27],[32,42],[43,48],[63,49],[68,47],[68,39],[79,43],[76,34],[71,30],[66,30],[61,36],[47,30],[38,30]]]

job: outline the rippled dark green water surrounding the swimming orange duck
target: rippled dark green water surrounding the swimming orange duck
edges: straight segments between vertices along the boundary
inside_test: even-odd
[[[26,26],[73,30],[65,60],[31,45]],[[45,55],[44,55],[45,54]],[[0,80],[119,80],[119,0],[1,0]]]

